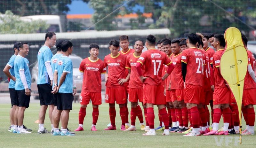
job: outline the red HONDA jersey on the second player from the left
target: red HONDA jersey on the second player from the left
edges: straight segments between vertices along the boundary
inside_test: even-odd
[[[105,56],[104,58],[105,66],[108,66],[108,80],[106,82],[107,87],[124,87],[124,85],[119,85],[117,81],[120,78],[126,78],[125,75],[125,63],[126,56],[118,53],[118,56],[112,57],[111,54]]]

